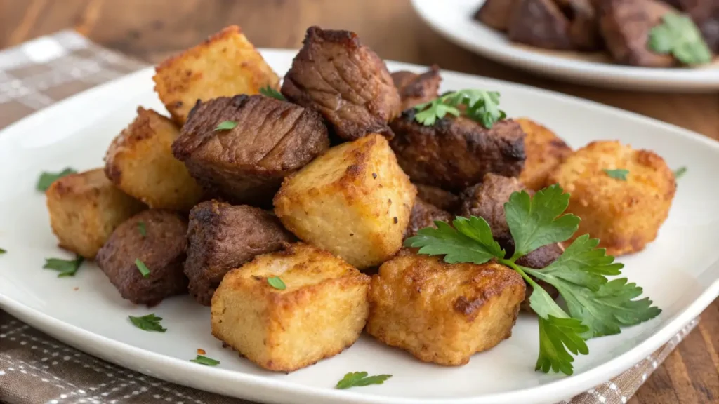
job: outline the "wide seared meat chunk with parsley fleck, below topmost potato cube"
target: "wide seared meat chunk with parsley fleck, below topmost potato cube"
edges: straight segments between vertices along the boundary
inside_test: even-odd
[[[223,121],[237,125],[216,130]],[[285,175],[328,147],[327,128],[313,109],[242,95],[198,102],[173,154],[209,194],[269,206]]]

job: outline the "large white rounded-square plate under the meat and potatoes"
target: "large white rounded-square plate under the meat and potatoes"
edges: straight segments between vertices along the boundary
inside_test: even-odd
[[[266,50],[278,72],[294,51]],[[388,63],[390,70],[421,69]],[[42,170],[99,167],[110,140],[131,121],[138,104],[162,110],[152,70],[142,70],[60,102],[0,132],[0,307],[66,343],[148,375],[183,385],[275,403],[554,403],[605,382],[651,354],[699,315],[719,292],[719,144],[677,127],[578,98],[461,73],[443,72],[443,90],[488,88],[502,93],[510,116],[528,115],[574,147],[592,139],[621,139],[648,147],[672,167],[687,165],[659,239],[626,257],[624,273],[644,286],[664,312],[618,336],[589,341],[590,355],[572,377],[534,372],[536,318],[522,315],[513,336],[463,367],[425,364],[369,336],[336,357],[293,372],[266,372],[210,336],[209,308],[189,296],[148,310],[120,298],[105,275],[86,263],[76,277],[42,270],[44,257],[70,257],[50,232],[45,197],[35,190]],[[78,287],[79,290],[73,290]],[[157,313],[166,334],[134,328],[128,315]],[[2,341],[0,339],[0,341]],[[204,367],[188,359],[196,349],[219,359]],[[394,375],[384,385],[334,390],[346,372]]]

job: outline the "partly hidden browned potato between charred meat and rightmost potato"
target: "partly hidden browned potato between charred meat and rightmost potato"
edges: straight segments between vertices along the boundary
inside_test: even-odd
[[[519,180],[531,190],[540,190],[548,184],[546,179],[557,165],[572,154],[569,147],[557,134],[541,124],[527,118],[517,119],[522,130],[527,135],[524,138],[524,168]]]

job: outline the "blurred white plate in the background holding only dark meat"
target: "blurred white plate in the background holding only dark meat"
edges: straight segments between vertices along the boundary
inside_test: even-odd
[[[623,90],[710,92],[719,90],[713,68],[637,68],[558,56],[518,46],[474,16],[485,0],[412,0],[414,9],[447,40],[487,58],[565,81]]]

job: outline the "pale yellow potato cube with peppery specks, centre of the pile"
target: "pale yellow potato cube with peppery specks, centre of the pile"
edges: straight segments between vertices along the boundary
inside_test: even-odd
[[[303,241],[363,269],[402,247],[416,195],[387,139],[370,134],[285,178],[275,214]]]

